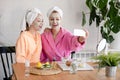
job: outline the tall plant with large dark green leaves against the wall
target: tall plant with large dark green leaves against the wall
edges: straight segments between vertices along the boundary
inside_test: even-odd
[[[114,40],[113,33],[120,31],[120,0],[86,0],[90,10],[89,25],[96,22],[101,35],[108,43]],[[86,23],[83,13],[82,26]]]

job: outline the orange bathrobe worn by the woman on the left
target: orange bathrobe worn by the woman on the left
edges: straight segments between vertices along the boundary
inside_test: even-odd
[[[16,43],[16,62],[24,63],[25,60],[29,60],[30,63],[36,63],[40,61],[41,49],[40,33],[37,33],[37,37],[34,38],[28,31],[22,32]]]

